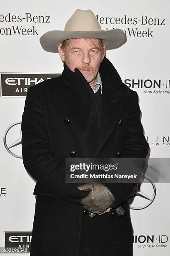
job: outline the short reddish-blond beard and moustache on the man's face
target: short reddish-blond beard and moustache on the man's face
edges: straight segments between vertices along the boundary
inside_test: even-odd
[[[97,73],[99,71],[99,68],[100,68],[100,64],[102,62],[102,59],[100,60],[100,63],[99,65],[94,68],[94,67],[91,67],[90,64],[82,64],[81,66],[77,66],[75,68],[72,68],[70,66],[70,62],[67,60],[67,58],[65,58],[65,64],[67,65],[67,67],[72,71],[74,72],[75,69],[79,69],[79,70],[91,70],[92,71],[92,74],[82,74],[85,79],[87,80],[88,83],[92,82],[92,80],[94,80],[97,76]],[[81,71],[80,71],[81,72]]]

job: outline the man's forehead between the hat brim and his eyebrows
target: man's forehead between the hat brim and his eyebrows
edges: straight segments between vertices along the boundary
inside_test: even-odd
[[[89,46],[89,47],[98,47],[98,40],[97,38],[72,38],[70,39],[69,48],[72,47],[82,47],[82,46]]]

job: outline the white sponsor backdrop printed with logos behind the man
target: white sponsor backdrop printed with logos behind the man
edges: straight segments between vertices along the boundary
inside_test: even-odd
[[[139,95],[150,158],[170,158],[170,2],[5,1],[0,8],[0,248],[30,248],[36,181],[23,166],[21,120],[30,86],[62,73],[58,54],[44,51],[40,36],[64,30],[79,8],[91,9],[102,28],[121,28],[127,42],[106,52],[122,81]],[[153,166],[154,169],[154,166]],[[130,200],[134,256],[170,255],[168,183],[152,179]],[[24,255],[24,253],[15,253]]]

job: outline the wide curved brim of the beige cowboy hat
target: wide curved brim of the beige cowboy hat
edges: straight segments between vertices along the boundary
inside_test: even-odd
[[[100,38],[105,44],[105,49],[117,48],[125,43],[125,33],[119,29],[100,31],[48,31],[40,37],[40,44],[45,51],[58,53],[58,45],[66,39],[72,38]]]

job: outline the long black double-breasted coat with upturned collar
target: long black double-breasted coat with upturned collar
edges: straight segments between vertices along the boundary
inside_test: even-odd
[[[64,63],[60,77],[28,90],[22,118],[25,169],[37,180],[31,256],[131,256],[132,224],[127,199],[135,184],[105,184],[114,212],[90,218],[79,199],[88,192],[65,183],[65,158],[145,158],[148,143],[138,95],[122,83],[104,57],[100,65],[102,113],[78,69]]]

